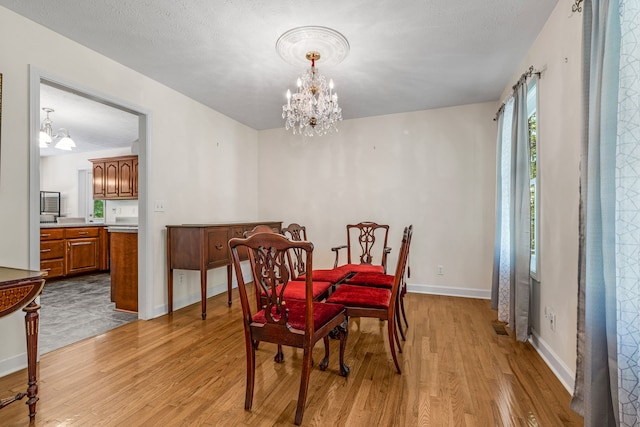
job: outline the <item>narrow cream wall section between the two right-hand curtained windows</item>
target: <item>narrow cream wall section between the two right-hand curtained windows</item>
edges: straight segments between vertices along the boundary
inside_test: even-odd
[[[534,345],[569,389],[576,363],[578,202],[582,16],[558,2],[527,52],[515,82],[530,65],[538,83],[540,286],[533,289]],[[505,88],[504,96],[511,93]],[[556,330],[544,308],[556,313]]]

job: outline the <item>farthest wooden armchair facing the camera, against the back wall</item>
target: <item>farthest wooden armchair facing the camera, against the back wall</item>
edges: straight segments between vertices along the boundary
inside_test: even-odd
[[[346,249],[346,264],[351,272],[387,272],[387,255],[391,248],[387,247],[389,226],[375,222],[360,222],[347,225],[347,244],[331,248],[336,253],[334,268],[338,267],[340,251]],[[353,241],[352,241],[353,240]],[[377,244],[380,240],[381,243]],[[378,261],[375,262],[375,258]]]

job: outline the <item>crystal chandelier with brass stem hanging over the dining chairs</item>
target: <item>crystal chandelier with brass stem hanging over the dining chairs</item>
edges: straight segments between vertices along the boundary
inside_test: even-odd
[[[320,59],[318,52],[307,52],[311,68],[298,78],[298,90],[292,94],[287,89],[287,105],[282,106],[285,128],[293,134],[305,136],[324,135],[337,131],[336,122],[342,120],[342,108],[338,94],[333,91],[333,79],[327,79],[316,69]]]

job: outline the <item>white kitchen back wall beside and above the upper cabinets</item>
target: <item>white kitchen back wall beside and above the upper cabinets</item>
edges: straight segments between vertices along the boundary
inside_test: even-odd
[[[60,215],[78,215],[78,171],[91,170],[89,159],[131,154],[130,148],[40,157],[40,190],[60,192]]]

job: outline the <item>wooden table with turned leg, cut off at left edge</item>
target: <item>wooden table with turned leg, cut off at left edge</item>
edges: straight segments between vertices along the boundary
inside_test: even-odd
[[[38,356],[38,310],[40,306],[35,299],[44,287],[44,279],[40,271],[20,270],[0,267],[0,317],[22,309],[25,315],[27,334],[27,371],[29,382],[25,393],[14,397],[0,399],[0,409],[16,400],[27,397],[29,417],[36,416],[38,402],[37,356]]]

